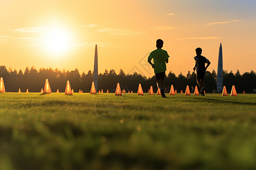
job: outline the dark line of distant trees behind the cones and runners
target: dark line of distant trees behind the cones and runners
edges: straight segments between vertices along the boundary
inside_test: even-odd
[[[71,88],[75,92],[78,92],[80,89],[83,92],[90,92],[90,87],[92,86],[93,73],[88,71],[88,73],[79,73],[78,69],[72,71],[65,70],[53,70],[49,69],[39,69],[36,70],[34,67],[28,69],[26,67],[24,73],[22,70],[9,70],[6,69],[6,66],[0,66],[0,76],[3,77],[5,82],[6,92],[18,92],[20,88],[22,92],[25,92],[26,89],[30,92],[40,92],[41,88],[44,88],[44,82],[46,78],[49,80],[52,92],[56,92],[59,88],[60,92],[65,91],[65,86],[67,80],[71,83]],[[216,92],[216,71],[212,72],[207,71],[205,73],[205,92],[214,93]],[[243,73],[242,75],[237,70],[234,74],[232,71],[224,70],[223,72],[223,85],[226,86],[228,93],[230,93],[232,85],[236,86],[238,93],[245,91],[245,93],[252,93],[253,89],[256,88],[256,74],[254,71]],[[150,86],[153,86],[154,92],[157,91],[157,86],[155,82],[155,76],[151,78],[146,78],[145,76],[139,73],[125,74],[123,70],[119,70],[119,73],[115,73],[115,70],[110,69],[105,70],[105,72],[98,75],[98,90],[103,89],[104,92],[109,90],[109,92],[114,92],[117,83],[120,83],[121,89],[126,91],[133,90],[137,92],[138,84],[142,84],[144,92],[147,92]],[[196,83],[196,74],[195,72],[188,71],[187,75],[179,74],[175,75],[170,71],[164,79],[166,84],[166,92],[170,91],[171,84],[174,85],[175,90],[180,92],[185,91],[186,86],[190,88],[195,87]]]

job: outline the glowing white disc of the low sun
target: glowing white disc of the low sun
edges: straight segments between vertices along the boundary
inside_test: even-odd
[[[48,28],[43,36],[44,49],[55,56],[67,53],[71,45],[71,37],[65,29]]]

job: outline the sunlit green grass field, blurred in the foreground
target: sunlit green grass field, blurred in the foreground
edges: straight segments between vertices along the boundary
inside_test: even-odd
[[[256,169],[256,95],[0,94],[0,169]]]

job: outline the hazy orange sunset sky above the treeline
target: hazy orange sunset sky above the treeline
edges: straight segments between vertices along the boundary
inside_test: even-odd
[[[220,42],[224,70],[256,71],[255,9],[255,0],[0,0],[0,65],[87,73],[98,44],[99,73],[152,76],[148,53],[162,39],[167,73],[192,71],[197,47],[217,70]]]

